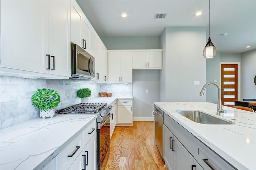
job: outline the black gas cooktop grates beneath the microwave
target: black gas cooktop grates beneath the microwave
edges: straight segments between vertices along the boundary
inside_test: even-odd
[[[87,113],[87,114],[96,114],[104,107],[107,103],[80,103],[64,109],[55,111],[56,114],[77,114],[77,113]]]

